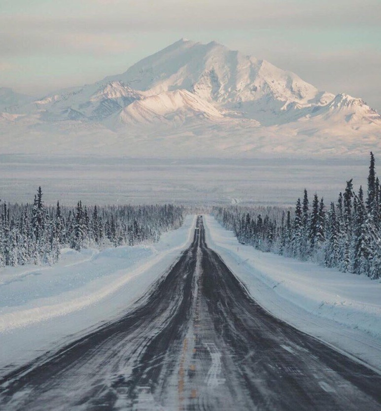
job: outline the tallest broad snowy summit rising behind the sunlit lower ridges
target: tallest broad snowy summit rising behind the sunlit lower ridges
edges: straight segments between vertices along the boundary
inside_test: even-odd
[[[318,95],[315,87],[296,74],[214,41],[201,44],[181,39],[123,74],[104,80],[116,79],[153,94],[185,89],[208,102],[234,108],[269,96],[285,105],[303,105],[315,101]]]

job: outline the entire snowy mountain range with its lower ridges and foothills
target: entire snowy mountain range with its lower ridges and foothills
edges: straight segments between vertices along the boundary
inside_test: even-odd
[[[2,133],[17,129],[29,142],[31,133],[41,141],[49,134],[47,144],[54,141],[58,152],[63,134],[86,136],[79,147],[84,153],[105,145],[110,154],[149,155],[146,149],[160,140],[155,153],[165,156],[200,152],[200,142],[212,156],[356,154],[364,145],[366,151],[378,146],[381,137],[381,116],[363,100],[319,91],[290,71],[216,42],[185,39],[122,74],[40,100],[0,89],[0,110]],[[22,142],[5,138],[5,151]],[[128,142],[132,150],[124,149]]]

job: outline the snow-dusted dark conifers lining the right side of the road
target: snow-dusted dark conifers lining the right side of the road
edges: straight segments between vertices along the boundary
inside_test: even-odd
[[[295,209],[215,207],[213,214],[238,240],[262,251],[312,260],[342,272],[381,278],[381,186],[370,153],[367,192],[352,179],[337,202],[324,204],[305,189]]]

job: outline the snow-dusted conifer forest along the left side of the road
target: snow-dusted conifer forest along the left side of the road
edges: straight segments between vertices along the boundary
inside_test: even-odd
[[[105,248],[156,242],[161,233],[179,228],[182,206],[45,206],[41,187],[34,203],[2,203],[0,267],[56,263],[63,247]]]

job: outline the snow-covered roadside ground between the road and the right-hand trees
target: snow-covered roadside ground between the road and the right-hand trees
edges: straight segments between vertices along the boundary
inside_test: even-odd
[[[211,216],[208,246],[264,308],[381,371],[381,283],[238,242]]]

